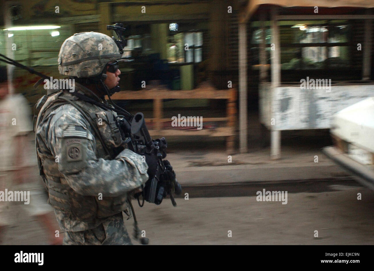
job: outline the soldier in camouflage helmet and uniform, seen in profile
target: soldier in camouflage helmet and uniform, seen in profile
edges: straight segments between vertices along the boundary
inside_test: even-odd
[[[129,194],[151,173],[150,162],[125,148],[104,99],[118,91],[121,56],[107,35],[74,34],[58,55],[59,73],[74,79],[74,92],[48,90],[38,102],[39,167],[64,244],[131,244],[123,212],[131,214]]]

